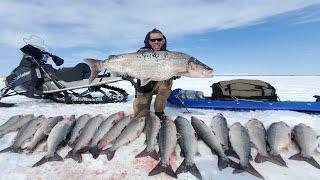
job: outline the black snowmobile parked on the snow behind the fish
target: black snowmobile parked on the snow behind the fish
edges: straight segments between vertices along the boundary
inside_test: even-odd
[[[20,50],[23,53],[22,60],[5,78],[6,86],[0,90],[0,100],[24,95],[66,104],[100,104],[123,102],[128,97],[124,89],[109,85],[122,81],[122,77],[111,77],[105,71],[89,83],[91,71],[85,63],[55,69],[48,59],[51,58],[56,66],[61,66],[64,60],[41,46],[26,43]],[[0,103],[0,107],[12,105]]]

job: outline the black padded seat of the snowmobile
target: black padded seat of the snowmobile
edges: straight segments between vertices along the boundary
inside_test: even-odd
[[[79,63],[75,67],[64,67],[54,71],[59,80],[65,82],[79,81],[88,79],[91,74],[90,67],[85,63]]]

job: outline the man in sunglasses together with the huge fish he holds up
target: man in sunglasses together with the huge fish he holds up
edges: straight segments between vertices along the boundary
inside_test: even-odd
[[[136,53],[111,55],[105,61],[85,61],[91,68],[90,81],[103,69],[107,69],[112,75],[137,78],[134,114],[147,115],[150,112],[152,96],[156,95],[155,114],[163,120],[172,79],[177,76],[209,78],[213,76],[213,70],[192,56],[167,51],[166,37],[158,29],[148,32],[144,43],[145,46]]]

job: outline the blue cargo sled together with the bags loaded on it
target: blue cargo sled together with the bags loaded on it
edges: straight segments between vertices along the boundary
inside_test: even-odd
[[[275,88],[260,80],[220,81],[211,88],[211,97],[202,91],[175,89],[168,102],[184,108],[320,112],[320,96],[314,96],[316,102],[280,101]]]

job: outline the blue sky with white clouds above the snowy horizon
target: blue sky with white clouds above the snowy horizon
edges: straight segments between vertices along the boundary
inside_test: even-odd
[[[320,75],[319,0],[3,0],[0,17],[0,75],[30,35],[73,66],[136,51],[154,27],[216,74]]]

